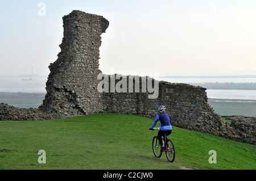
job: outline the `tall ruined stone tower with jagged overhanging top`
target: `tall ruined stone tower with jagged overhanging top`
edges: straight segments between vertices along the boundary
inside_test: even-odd
[[[97,91],[101,34],[109,22],[102,16],[74,10],[63,17],[61,52],[46,83],[47,94],[40,110],[66,116],[86,115],[102,110]]]

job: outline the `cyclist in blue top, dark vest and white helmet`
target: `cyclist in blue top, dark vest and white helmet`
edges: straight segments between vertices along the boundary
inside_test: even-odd
[[[158,132],[158,140],[161,145],[161,150],[163,150],[163,148],[164,148],[162,136],[164,137],[165,134],[166,134],[166,136],[168,136],[172,133],[172,125],[170,123],[170,117],[169,117],[168,113],[166,113],[165,109],[166,109],[166,107],[164,107],[164,106],[158,107],[159,114],[155,117],[155,121],[152,124],[152,126],[150,127],[150,130],[154,130],[153,128],[155,127],[156,123],[159,120],[160,130]]]

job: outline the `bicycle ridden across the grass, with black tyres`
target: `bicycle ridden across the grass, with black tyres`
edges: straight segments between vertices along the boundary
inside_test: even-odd
[[[153,131],[155,129],[160,130],[160,128],[153,128]],[[175,148],[174,148],[174,142],[172,140],[168,139],[166,136],[162,140],[164,142],[164,148],[161,150],[160,142],[158,141],[158,137],[154,136],[152,140],[152,149],[155,157],[160,158],[162,156],[163,151],[166,152],[166,157],[169,162],[174,162],[175,159]]]

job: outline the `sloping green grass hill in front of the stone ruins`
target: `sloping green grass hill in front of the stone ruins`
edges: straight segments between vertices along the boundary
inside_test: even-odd
[[[256,146],[173,127],[173,163],[152,153],[153,120],[98,113],[51,121],[0,121],[0,169],[256,169]],[[38,163],[39,150],[46,164]],[[217,163],[208,162],[216,150]]]

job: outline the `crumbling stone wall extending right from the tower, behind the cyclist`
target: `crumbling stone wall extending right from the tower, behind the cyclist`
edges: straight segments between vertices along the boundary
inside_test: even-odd
[[[115,83],[117,83],[116,81]],[[153,82],[153,81],[152,81]],[[128,79],[127,79],[128,85]],[[141,79],[140,79],[140,85]],[[207,102],[205,88],[184,83],[160,81],[159,95],[148,99],[148,92],[104,92],[103,108],[106,112],[135,113],[155,119],[158,106],[166,106],[172,125],[194,131],[224,136],[227,133],[225,121]],[[134,86],[133,86],[134,87]]]

